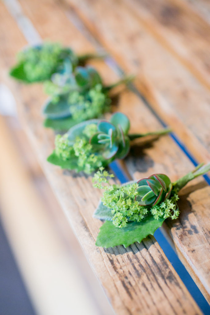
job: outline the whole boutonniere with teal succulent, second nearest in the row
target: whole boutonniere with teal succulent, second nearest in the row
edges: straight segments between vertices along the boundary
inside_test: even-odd
[[[79,123],[65,135],[56,136],[55,149],[48,162],[90,174],[116,158],[124,158],[130,150],[131,140],[169,132],[163,129],[147,134],[128,134],[129,129],[128,117],[120,112],[113,114],[109,121],[92,119]]]

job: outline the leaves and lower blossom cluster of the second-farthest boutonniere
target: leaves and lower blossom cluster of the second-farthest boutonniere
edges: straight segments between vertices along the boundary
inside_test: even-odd
[[[44,125],[56,130],[68,130],[82,121],[99,118],[110,108],[111,100],[97,84],[89,90],[54,95],[43,106]]]

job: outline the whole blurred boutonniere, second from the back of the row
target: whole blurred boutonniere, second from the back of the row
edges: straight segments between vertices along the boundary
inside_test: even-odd
[[[44,105],[45,127],[68,130],[82,121],[100,118],[110,109],[109,91],[133,77],[126,77],[104,86],[99,73],[90,66],[77,66],[71,74],[54,74],[45,82],[45,91],[51,95]]]

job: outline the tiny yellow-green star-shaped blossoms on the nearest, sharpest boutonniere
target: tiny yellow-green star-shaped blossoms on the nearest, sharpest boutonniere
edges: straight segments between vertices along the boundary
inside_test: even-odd
[[[148,212],[158,220],[159,218],[177,219],[179,216],[179,209],[177,206],[178,195],[172,192],[170,199],[162,200],[156,205],[142,206],[136,200],[139,195],[138,183],[131,183],[125,186],[110,185],[108,178],[113,177],[109,175],[103,167],[101,167],[93,177],[94,187],[104,189],[101,201],[104,206],[111,209],[112,222],[114,226],[122,228],[127,226],[129,221],[140,222],[144,219]],[[107,185],[102,185],[106,183]]]

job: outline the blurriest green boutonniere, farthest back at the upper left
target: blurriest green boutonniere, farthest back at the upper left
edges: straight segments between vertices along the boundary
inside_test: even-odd
[[[50,80],[55,73],[70,74],[78,65],[95,57],[98,55],[77,56],[73,50],[59,43],[45,42],[20,51],[10,75],[24,83],[43,82]]]

